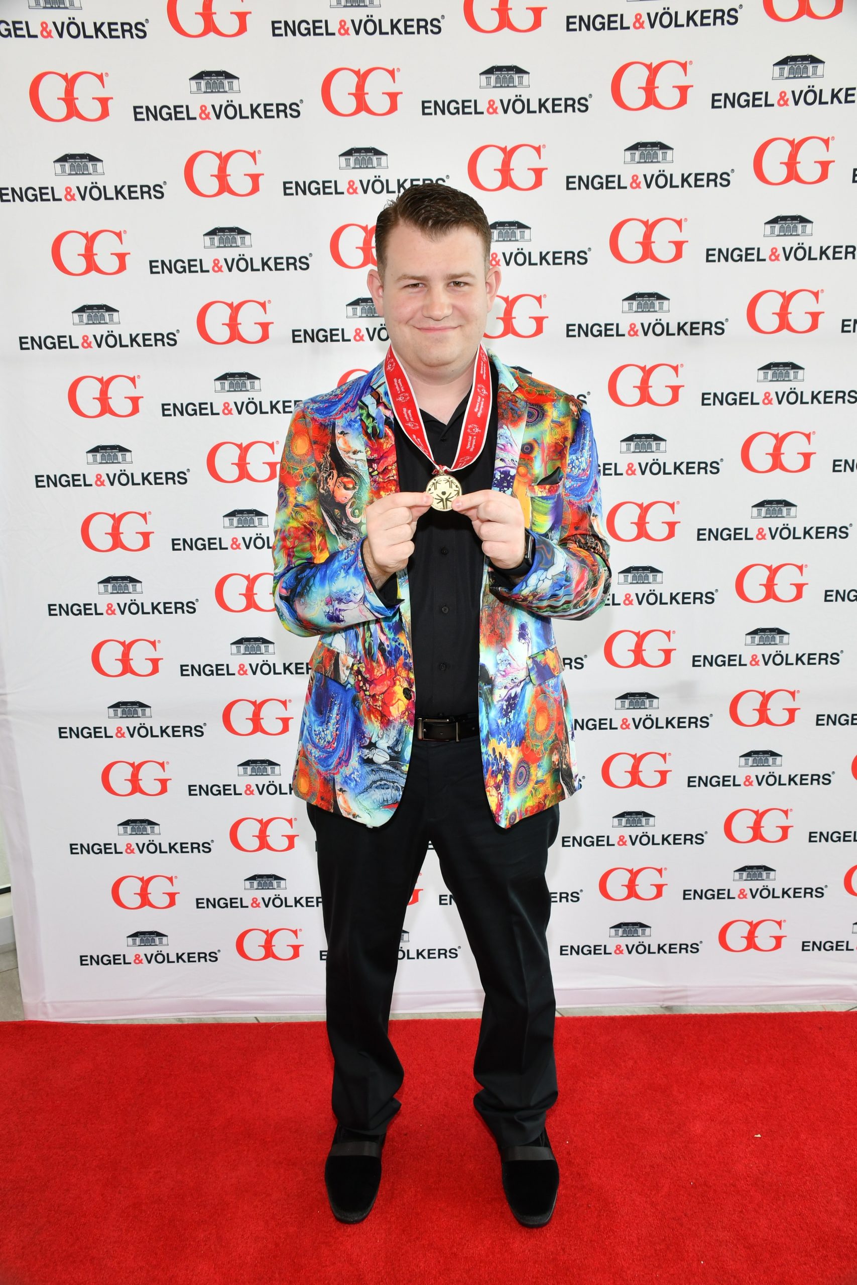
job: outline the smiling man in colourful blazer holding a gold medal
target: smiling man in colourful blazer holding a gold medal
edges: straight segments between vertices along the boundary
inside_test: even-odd
[[[280,619],[320,635],[293,789],[328,938],[325,1182],[337,1218],[366,1217],[401,1106],[401,929],[432,842],[486,993],[474,1105],[513,1213],[542,1226],[559,1186],[545,867],[578,786],[551,617],[591,616],[609,590],[597,456],[579,402],[482,347],[500,271],[472,197],[410,188],[375,245],[391,348],[296,411],[274,533]]]

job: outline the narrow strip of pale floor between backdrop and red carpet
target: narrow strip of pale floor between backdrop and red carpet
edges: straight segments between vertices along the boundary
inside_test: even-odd
[[[605,1005],[604,1007],[558,1009],[560,1016],[570,1018],[576,1015],[597,1016],[636,1013],[848,1013],[857,1011],[854,1004],[707,1004],[700,1006],[681,1004],[654,1004],[637,1006]],[[13,950],[0,951],[0,1022],[22,1022],[23,1006],[21,1004],[21,984],[18,982],[18,956]],[[478,1018],[479,1013],[397,1013],[394,1018]],[[275,1016],[270,1013],[263,1016],[252,1014],[239,1014],[235,1016],[203,1016],[203,1018],[126,1018],[109,1019],[126,1020],[134,1023],[163,1023],[163,1022],[322,1022],[324,1014],[283,1014]]]

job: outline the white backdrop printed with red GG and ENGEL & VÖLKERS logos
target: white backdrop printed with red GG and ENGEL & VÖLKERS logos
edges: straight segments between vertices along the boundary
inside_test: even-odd
[[[852,3],[4,0],[27,1016],[322,1007],[275,477],[301,400],[383,356],[374,222],[427,179],[488,215],[490,346],[601,456],[559,1002],[854,995]],[[478,998],[429,852],[396,1005]]]

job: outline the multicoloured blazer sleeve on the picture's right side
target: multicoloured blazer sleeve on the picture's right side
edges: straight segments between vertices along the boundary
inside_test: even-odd
[[[509,585],[490,565],[492,590],[537,616],[582,621],[603,607],[610,592],[610,546],[601,520],[599,459],[590,414],[573,398],[572,442],[563,479],[563,519],[556,540],[533,532],[533,563]]]

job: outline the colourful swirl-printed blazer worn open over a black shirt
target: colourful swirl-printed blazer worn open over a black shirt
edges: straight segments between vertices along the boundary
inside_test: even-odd
[[[499,374],[492,488],[520,501],[532,568],[501,585],[486,556],[474,704],[484,786],[499,825],[578,789],[573,721],[552,617],[583,619],[610,587],[588,412],[574,397]],[[274,526],[274,601],[283,625],[319,636],[293,790],[329,812],[383,825],[401,798],[414,736],[407,569],[400,603],[378,596],[361,558],[366,505],[398,490],[383,364],[321,397],[289,425]],[[477,675],[474,675],[477,680]]]

